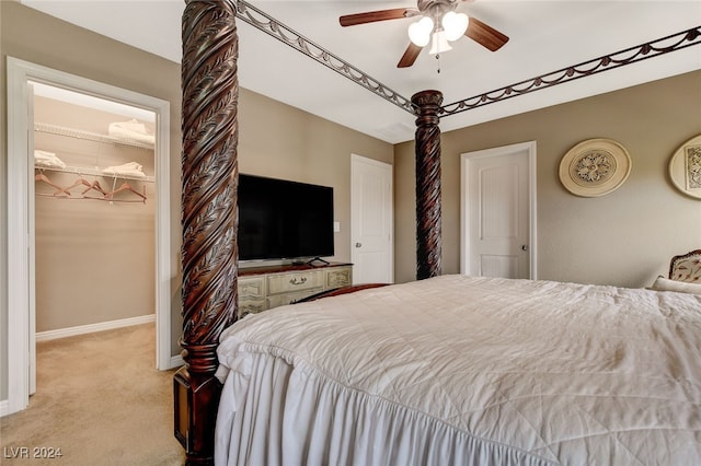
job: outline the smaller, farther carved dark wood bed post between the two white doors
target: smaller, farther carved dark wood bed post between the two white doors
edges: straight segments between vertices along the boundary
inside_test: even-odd
[[[440,275],[439,91],[412,96],[416,118],[416,279]]]

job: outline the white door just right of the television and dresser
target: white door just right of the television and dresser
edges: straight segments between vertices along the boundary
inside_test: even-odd
[[[394,281],[392,165],[350,160],[350,261],[354,283]]]

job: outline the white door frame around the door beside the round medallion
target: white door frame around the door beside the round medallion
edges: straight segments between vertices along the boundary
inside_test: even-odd
[[[460,273],[469,275],[470,270],[470,202],[468,202],[470,162],[478,159],[512,155],[515,152],[527,151],[528,158],[528,223],[529,223],[529,275],[531,280],[538,278],[538,235],[537,235],[537,201],[536,201],[536,141],[460,154]]]

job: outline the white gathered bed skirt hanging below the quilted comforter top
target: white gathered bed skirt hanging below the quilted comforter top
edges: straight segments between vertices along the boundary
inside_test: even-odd
[[[324,381],[299,362],[238,359],[221,395],[216,465],[553,464]]]

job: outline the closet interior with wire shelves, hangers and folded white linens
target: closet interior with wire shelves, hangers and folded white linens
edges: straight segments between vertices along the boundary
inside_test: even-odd
[[[37,341],[149,322],[154,114],[35,84],[33,119]]]

